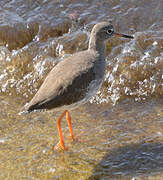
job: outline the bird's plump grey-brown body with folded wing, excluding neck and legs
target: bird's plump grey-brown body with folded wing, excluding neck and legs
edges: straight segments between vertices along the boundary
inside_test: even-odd
[[[25,109],[33,111],[71,106],[88,99],[90,91],[97,89],[102,82],[102,66],[105,66],[105,61],[95,51],[82,51],[65,58],[50,71]]]

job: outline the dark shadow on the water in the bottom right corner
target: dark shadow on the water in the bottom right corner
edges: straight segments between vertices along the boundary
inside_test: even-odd
[[[131,179],[163,172],[163,144],[131,144],[107,153],[89,180]]]

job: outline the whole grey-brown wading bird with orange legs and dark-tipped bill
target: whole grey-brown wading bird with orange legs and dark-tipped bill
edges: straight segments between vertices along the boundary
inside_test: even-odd
[[[74,141],[69,110],[87,102],[101,87],[105,74],[105,41],[111,36],[133,38],[114,32],[108,22],[96,24],[85,51],[73,54],[58,63],[47,75],[40,89],[25,106],[28,112],[40,109],[59,109],[64,112],[57,120],[59,146],[66,150],[61,120],[66,115],[70,137]]]

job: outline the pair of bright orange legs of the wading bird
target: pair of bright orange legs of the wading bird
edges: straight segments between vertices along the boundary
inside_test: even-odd
[[[64,140],[63,140],[63,134],[62,134],[62,129],[61,129],[61,120],[63,119],[63,117],[65,115],[66,115],[67,123],[68,123],[68,126],[69,126],[70,137],[71,137],[72,141],[74,140],[70,113],[67,110],[65,110],[57,120],[57,127],[58,127],[59,138],[60,138],[60,141],[57,144],[57,148],[58,148],[58,146],[60,146],[63,150],[66,150],[66,147],[65,147],[65,144],[64,144]]]

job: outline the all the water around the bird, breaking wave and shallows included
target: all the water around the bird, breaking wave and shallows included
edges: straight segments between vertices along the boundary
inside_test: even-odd
[[[163,179],[163,2],[0,2],[0,179]],[[72,112],[81,141],[54,152],[55,112],[18,115],[47,73],[88,46],[110,21],[107,71],[91,102]],[[65,127],[65,128],[64,128]],[[83,140],[83,141],[82,141]]]

